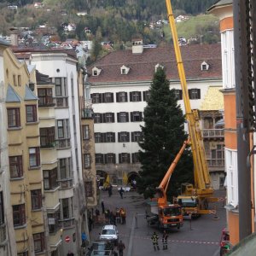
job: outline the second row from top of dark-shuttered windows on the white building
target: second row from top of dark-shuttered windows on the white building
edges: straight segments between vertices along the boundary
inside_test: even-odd
[[[131,122],[142,122],[143,121],[143,112],[133,111],[130,112]],[[129,113],[128,112],[119,112],[117,113],[118,123],[129,122]],[[114,113],[94,113],[94,122],[95,124],[99,123],[114,123]]]

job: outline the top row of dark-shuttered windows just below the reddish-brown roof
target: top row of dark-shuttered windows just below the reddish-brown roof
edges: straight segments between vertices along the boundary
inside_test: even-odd
[[[177,100],[183,99],[182,90],[174,90],[175,96]],[[105,93],[92,93],[90,95],[92,103],[112,103],[113,92],[105,92]],[[150,91],[131,91],[129,93],[129,101],[130,102],[148,102],[150,97]],[[201,98],[201,90],[200,89],[189,89],[189,99],[196,100]],[[119,91],[115,93],[115,102],[128,102],[128,93],[126,91]]]

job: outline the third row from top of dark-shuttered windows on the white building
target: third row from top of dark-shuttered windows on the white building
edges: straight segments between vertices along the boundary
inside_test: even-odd
[[[95,143],[115,143],[115,133],[114,132],[95,132]],[[131,131],[131,142],[141,142],[143,139],[142,131]],[[130,132],[120,131],[118,132],[118,142],[119,143],[129,143],[130,142]]]

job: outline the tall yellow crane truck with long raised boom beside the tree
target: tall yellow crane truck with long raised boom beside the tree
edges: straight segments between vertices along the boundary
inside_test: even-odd
[[[193,217],[200,216],[201,214],[216,213],[216,209],[208,209],[209,202],[218,201],[218,199],[212,197],[214,191],[211,187],[205,148],[203,139],[201,137],[199,114],[197,110],[191,109],[189,102],[189,91],[187,87],[181,51],[178,44],[177,29],[172,12],[171,0],[166,0],[166,9],[172,31],[172,40],[177,61],[177,71],[183,91],[183,102],[189,127],[189,141],[194,162],[195,179],[195,185],[190,183],[182,184],[182,193],[177,197],[177,202],[181,207],[183,207],[183,215],[191,214]]]

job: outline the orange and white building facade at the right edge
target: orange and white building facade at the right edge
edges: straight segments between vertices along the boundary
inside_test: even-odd
[[[227,221],[230,242],[239,241],[237,139],[236,139],[236,81],[234,54],[234,20],[232,0],[219,1],[209,9],[220,20],[223,94],[224,94],[224,143],[225,171],[227,175]]]

